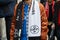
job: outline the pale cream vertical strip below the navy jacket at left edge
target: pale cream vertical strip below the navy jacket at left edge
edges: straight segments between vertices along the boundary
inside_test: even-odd
[[[0,18],[1,40],[7,40],[5,18]]]

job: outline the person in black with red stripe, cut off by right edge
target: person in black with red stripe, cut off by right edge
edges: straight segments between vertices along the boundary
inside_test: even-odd
[[[54,16],[53,23],[55,25],[55,36],[57,40],[60,40],[60,0],[56,0],[57,2],[54,5]]]

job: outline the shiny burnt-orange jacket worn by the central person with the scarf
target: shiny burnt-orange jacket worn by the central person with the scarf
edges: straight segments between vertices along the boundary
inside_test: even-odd
[[[14,9],[14,16],[12,17],[12,23],[11,23],[11,29],[10,29],[10,40],[14,40],[14,29],[15,29],[15,23],[16,23],[16,9],[18,4],[15,6]],[[41,12],[41,40],[47,40],[47,33],[48,33],[48,20],[46,17],[44,6],[39,3],[40,12]],[[24,7],[22,7],[22,18],[24,17]]]

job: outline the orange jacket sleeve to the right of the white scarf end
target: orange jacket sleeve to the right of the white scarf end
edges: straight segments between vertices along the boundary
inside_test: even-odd
[[[48,33],[48,20],[45,13],[44,6],[40,3],[40,14],[41,14],[41,40],[47,40],[47,33]]]

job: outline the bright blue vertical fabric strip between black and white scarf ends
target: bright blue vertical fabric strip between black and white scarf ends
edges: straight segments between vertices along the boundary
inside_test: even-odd
[[[28,4],[25,4],[21,40],[27,40],[27,31],[26,31],[26,21],[27,21],[26,16],[27,16],[27,13],[28,13]]]

